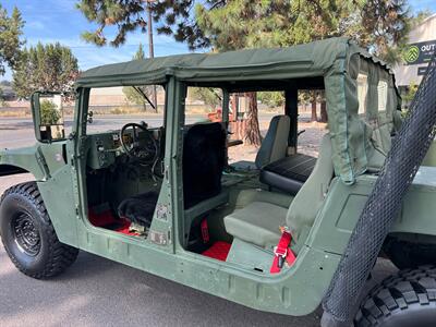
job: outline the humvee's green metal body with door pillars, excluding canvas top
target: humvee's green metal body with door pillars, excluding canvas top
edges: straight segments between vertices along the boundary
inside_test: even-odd
[[[117,84],[110,76],[104,82]],[[105,84],[101,83],[100,86]],[[232,262],[223,263],[184,250],[181,154],[185,84],[174,76],[169,76],[166,83],[166,107],[170,108],[165,125],[166,173],[157,205],[159,209],[155,211],[150,228],[160,241],[129,237],[89,223],[86,167],[105,167],[106,160],[111,159],[88,161],[95,138],[86,133],[89,88],[77,87],[76,92],[73,132],[68,140],[0,150],[0,169],[15,167],[19,168],[16,171],[27,171],[35,177],[61,242],[256,310],[306,315],[317,308],[376,175],[361,174],[353,184],[343,183],[339,177],[334,179],[291,268],[278,275],[247,270]],[[436,168],[423,167],[391,232],[417,240],[436,240],[435,196]],[[244,251],[249,257],[258,254],[255,249]]]

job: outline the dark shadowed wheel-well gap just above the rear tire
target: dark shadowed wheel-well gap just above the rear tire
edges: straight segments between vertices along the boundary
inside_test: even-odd
[[[412,243],[388,237],[383,250],[399,269],[416,268],[436,263],[436,244]]]

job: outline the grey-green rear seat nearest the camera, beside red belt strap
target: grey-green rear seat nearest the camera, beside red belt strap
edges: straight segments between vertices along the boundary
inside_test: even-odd
[[[225,217],[226,231],[237,239],[268,247],[280,240],[280,226],[290,228],[293,239],[304,242],[315,221],[334,177],[331,142],[323,137],[315,168],[289,208],[256,201]]]

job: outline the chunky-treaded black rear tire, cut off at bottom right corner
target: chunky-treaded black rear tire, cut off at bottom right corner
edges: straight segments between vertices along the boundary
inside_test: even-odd
[[[354,325],[436,326],[436,266],[402,270],[385,279],[363,301]]]

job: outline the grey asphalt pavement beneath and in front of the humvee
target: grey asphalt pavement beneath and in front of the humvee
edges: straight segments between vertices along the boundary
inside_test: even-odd
[[[110,124],[111,122],[107,122]],[[8,130],[8,126],[14,129]],[[29,121],[0,119],[0,148],[31,145]],[[0,194],[31,175],[0,178]],[[395,271],[376,266],[379,280]],[[81,253],[62,276],[20,274],[0,245],[0,326],[318,326],[319,312],[288,317],[256,312],[143,271]]]

